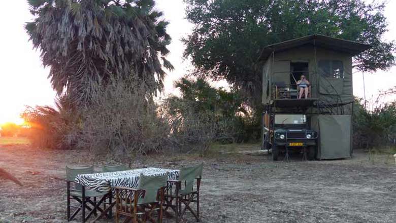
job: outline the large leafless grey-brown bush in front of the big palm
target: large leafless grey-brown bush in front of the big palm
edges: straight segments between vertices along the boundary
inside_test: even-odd
[[[170,127],[148,96],[144,82],[113,80],[94,92],[90,106],[82,109],[79,147],[127,161],[136,153],[158,152],[167,144]]]

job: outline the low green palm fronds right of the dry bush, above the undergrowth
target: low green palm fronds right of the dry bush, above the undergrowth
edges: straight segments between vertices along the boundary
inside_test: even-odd
[[[205,78],[184,76],[174,87],[180,96],[171,94],[164,100],[173,130],[183,128],[187,122],[229,121],[239,112],[247,115],[238,92],[216,89]]]

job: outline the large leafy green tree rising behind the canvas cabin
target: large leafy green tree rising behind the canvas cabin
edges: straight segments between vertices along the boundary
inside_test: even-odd
[[[269,44],[319,33],[373,46],[354,57],[364,71],[387,69],[395,63],[387,31],[384,3],[363,0],[184,0],[195,26],[184,40],[184,56],[196,75],[225,79],[241,87],[253,104],[261,93],[260,50]]]

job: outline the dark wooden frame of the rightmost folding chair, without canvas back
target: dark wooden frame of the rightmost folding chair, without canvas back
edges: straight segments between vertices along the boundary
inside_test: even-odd
[[[165,194],[164,200],[164,211],[169,214],[167,210],[171,208],[175,212],[176,223],[179,223],[183,218],[183,215],[186,213],[186,210],[189,210],[192,215],[194,215],[196,221],[200,221],[200,186],[201,186],[201,177],[195,177],[196,179],[196,190],[192,190],[189,194],[181,195],[179,192],[181,190],[182,181],[180,180],[168,180],[167,181],[167,191]],[[173,185],[175,185],[175,190],[173,190]],[[186,186],[186,181],[184,181],[184,187]],[[175,194],[173,194],[175,191]],[[173,200],[175,200],[175,204],[173,204]],[[191,208],[191,203],[196,203],[196,212]],[[184,208],[182,209],[182,204],[184,204]]]

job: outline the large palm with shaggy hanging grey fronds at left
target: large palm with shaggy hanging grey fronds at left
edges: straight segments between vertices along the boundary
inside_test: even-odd
[[[154,0],[28,0],[36,16],[26,30],[49,66],[52,87],[73,104],[89,102],[94,85],[121,78],[144,81],[148,95],[163,87],[171,42]],[[131,77],[133,76],[133,77]]]

